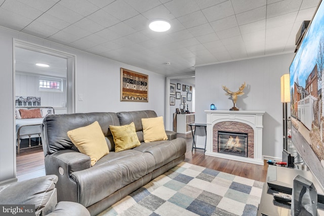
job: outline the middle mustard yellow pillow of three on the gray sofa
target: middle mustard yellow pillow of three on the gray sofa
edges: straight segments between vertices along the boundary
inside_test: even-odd
[[[140,146],[134,122],[123,126],[109,125],[115,143],[115,152]]]

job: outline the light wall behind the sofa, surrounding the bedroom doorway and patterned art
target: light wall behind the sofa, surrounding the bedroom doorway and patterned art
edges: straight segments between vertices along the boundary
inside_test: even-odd
[[[14,136],[14,73],[13,39],[20,39],[36,45],[59,50],[76,56],[75,63],[75,111],[131,111],[151,109],[157,115],[165,115],[166,78],[151,71],[131,65],[101,58],[82,51],[71,49],[28,34],[0,27],[0,184],[15,179],[16,153]],[[148,75],[148,103],[120,102],[120,67]],[[78,101],[78,95],[83,101]]]

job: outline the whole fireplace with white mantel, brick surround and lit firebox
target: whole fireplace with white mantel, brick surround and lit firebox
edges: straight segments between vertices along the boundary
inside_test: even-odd
[[[263,165],[264,111],[205,110],[206,155]]]

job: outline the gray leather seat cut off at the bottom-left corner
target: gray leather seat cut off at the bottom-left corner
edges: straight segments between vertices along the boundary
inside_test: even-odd
[[[0,203],[9,204],[12,208],[17,205],[35,205],[35,208],[31,210],[37,216],[89,216],[90,213],[87,208],[79,203],[66,201],[57,203],[55,188],[57,180],[57,176],[50,175],[0,186]],[[3,212],[3,209],[1,209],[1,212]]]

